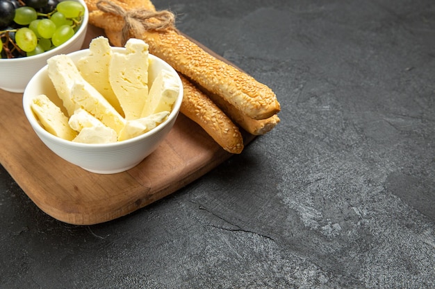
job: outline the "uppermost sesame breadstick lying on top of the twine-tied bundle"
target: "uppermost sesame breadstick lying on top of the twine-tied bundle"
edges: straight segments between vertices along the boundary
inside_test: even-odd
[[[95,0],[87,0],[95,1]],[[143,1],[144,6],[149,6],[151,1]],[[122,1],[113,1],[122,3]],[[136,8],[133,3],[129,8]],[[119,30],[124,26],[121,17],[113,17],[108,21],[110,13],[101,10],[91,10],[90,23],[106,30]],[[229,103],[238,108],[243,114],[252,119],[268,119],[277,114],[280,105],[276,95],[268,86],[256,81],[252,76],[232,67],[230,64],[219,60],[204,51],[187,37],[176,30],[145,31],[140,37],[149,44],[149,51],[168,62],[174,69],[183,73],[198,85],[219,94]]]

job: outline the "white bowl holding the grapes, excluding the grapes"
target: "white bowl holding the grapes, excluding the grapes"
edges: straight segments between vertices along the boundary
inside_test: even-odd
[[[79,30],[67,42],[50,51],[24,58],[0,58],[1,89],[22,93],[28,81],[47,64],[47,59],[57,54],[67,54],[81,49],[88,30],[89,11],[84,0],[74,1],[80,2],[85,7],[85,15]]]

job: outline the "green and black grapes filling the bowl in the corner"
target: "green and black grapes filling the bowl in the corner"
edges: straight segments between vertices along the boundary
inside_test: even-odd
[[[72,0],[0,0],[0,58],[36,55],[65,43],[84,13]]]

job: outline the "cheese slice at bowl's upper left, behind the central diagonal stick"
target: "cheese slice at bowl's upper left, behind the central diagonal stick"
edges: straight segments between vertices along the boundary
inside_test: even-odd
[[[71,116],[77,108],[72,99],[71,87],[76,80],[82,78],[81,74],[71,58],[65,54],[49,58],[47,64],[49,78],[53,82],[59,98],[63,101],[68,116]]]

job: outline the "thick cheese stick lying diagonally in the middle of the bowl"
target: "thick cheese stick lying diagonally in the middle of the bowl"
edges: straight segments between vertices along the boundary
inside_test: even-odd
[[[74,101],[81,105],[84,110],[95,116],[101,123],[120,133],[124,128],[125,119],[115,108],[102,96],[97,89],[87,82],[74,82],[72,86]]]

